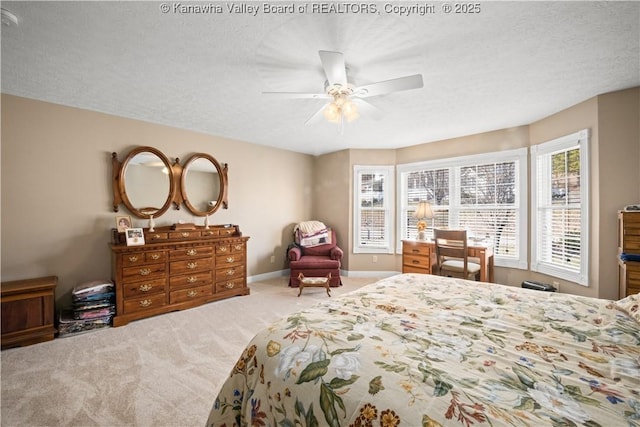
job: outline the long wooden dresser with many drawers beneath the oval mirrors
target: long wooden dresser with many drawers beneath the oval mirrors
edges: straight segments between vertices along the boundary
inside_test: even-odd
[[[249,237],[237,225],[144,229],[140,246],[127,246],[124,233],[114,230],[113,235],[113,326],[249,294]]]

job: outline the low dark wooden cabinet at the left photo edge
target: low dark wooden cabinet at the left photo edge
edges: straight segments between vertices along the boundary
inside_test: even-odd
[[[55,337],[56,276],[2,283],[2,349]]]

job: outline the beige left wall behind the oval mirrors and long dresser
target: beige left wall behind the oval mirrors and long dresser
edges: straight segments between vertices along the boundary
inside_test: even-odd
[[[57,275],[56,297],[67,301],[75,285],[110,278],[111,153],[122,159],[139,145],[228,163],[229,209],[210,222],[251,237],[250,276],[286,268],[293,225],[311,216],[312,156],[3,94],[2,280]],[[156,225],[178,220],[203,223],[182,207]]]

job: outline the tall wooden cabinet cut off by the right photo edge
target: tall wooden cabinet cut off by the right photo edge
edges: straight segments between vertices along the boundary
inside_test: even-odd
[[[640,292],[640,261],[622,260],[621,254],[640,259],[640,212],[618,212],[618,293],[620,298]]]

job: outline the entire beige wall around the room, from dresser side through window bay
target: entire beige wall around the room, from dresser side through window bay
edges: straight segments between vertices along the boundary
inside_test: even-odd
[[[616,298],[615,213],[640,203],[640,88],[605,94],[526,126],[397,150],[343,150],[318,157],[237,140],[2,95],[2,280],[55,274],[58,299],[78,283],[110,277],[114,226],[111,152],[138,145],[169,158],[194,152],[229,163],[229,209],[211,223],[239,224],[249,240],[248,273],[286,269],[293,226],[319,219],[334,227],[345,249],[343,269],[400,271],[399,255],[352,254],[353,165],[398,165],[528,147],[591,130],[591,286],[561,281],[563,292]],[[395,186],[394,186],[395,188]],[[393,201],[395,206],[395,201]],[[121,212],[126,213],[124,207]],[[202,223],[183,207],[157,225]],[[394,222],[395,223],[395,222]],[[146,221],[134,220],[145,226]],[[394,236],[395,241],[395,236]],[[271,256],[276,262],[270,263]],[[496,281],[551,279],[496,268]]]

